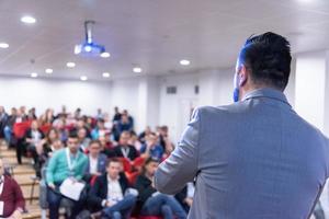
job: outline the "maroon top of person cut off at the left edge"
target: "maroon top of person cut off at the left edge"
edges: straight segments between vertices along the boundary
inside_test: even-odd
[[[4,203],[3,215],[1,218],[10,217],[18,208],[25,208],[25,200],[21,187],[12,177],[4,175],[3,189],[0,195],[0,201]]]

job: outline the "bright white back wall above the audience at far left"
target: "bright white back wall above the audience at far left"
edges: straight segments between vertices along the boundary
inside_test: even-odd
[[[48,107],[59,112],[63,105],[69,112],[77,107],[82,113],[95,115],[97,108],[110,111],[110,83],[30,78],[0,78],[0,105],[36,107],[39,115]]]

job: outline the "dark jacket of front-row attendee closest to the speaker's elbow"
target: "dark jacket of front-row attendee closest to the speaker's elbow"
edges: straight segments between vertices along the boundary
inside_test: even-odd
[[[152,182],[145,175],[139,175],[136,180],[135,187],[138,191],[138,201],[144,204],[154,193],[157,192],[155,187],[151,186]]]

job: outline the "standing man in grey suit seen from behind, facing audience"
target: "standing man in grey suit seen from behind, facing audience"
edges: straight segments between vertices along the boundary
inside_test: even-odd
[[[309,217],[329,174],[329,141],[283,94],[291,59],[280,35],[248,38],[237,61],[237,103],[197,108],[159,165],[161,193],[195,178],[190,219]]]

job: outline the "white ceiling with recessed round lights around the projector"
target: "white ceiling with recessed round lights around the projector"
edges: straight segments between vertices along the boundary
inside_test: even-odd
[[[21,23],[25,14],[37,23]],[[73,55],[86,20],[97,22],[94,41],[111,58]],[[329,47],[328,0],[0,0],[0,42],[10,45],[0,49],[7,76],[103,80],[104,71],[136,76],[134,65],[143,74],[226,68],[248,36],[266,31],[287,36],[294,53]],[[191,66],[180,66],[183,58]]]

